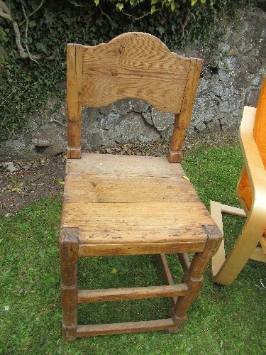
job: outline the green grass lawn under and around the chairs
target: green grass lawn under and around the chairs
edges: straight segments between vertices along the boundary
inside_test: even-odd
[[[201,199],[237,205],[242,165],[238,147],[199,148],[184,168]],[[62,341],[57,236],[60,200],[43,199],[11,218],[0,217],[0,354],[265,354],[265,264],[249,261],[230,287],[211,282],[209,269],[199,297],[179,334],[148,332]],[[225,219],[226,244],[240,231],[239,217]],[[181,278],[173,256],[171,267]],[[163,283],[156,256],[86,258],[81,287]],[[167,299],[82,306],[79,322],[123,322],[166,317]]]

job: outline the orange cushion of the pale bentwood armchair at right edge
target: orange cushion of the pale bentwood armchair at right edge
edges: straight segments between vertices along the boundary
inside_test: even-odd
[[[257,102],[253,136],[266,169],[266,77],[262,82],[262,89]],[[248,173],[245,168],[243,169],[243,173],[238,183],[238,194],[245,202],[248,209],[250,209],[252,204],[252,194],[250,182],[248,180]]]

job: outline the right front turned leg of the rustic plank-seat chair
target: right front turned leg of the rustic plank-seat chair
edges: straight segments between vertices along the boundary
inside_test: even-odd
[[[216,253],[218,246],[221,244],[222,236],[218,227],[205,227],[206,234],[209,236],[206,242],[205,249],[202,253],[194,253],[189,269],[184,273],[182,283],[186,283],[188,290],[187,294],[178,297],[171,312],[171,317],[174,321],[172,332],[179,332],[184,322],[187,320],[187,311],[189,306],[195,300],[203,283],[203,275],[211,257]]]

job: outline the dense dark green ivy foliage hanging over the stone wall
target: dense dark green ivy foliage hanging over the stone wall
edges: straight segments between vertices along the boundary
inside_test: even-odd
[[[1,3],[12,21],[3,16]],[[188,42],[214,48],[221,31],[226,31],[219,21],[235,20],[238,9],[253,6],[255,0],[0,1],[0,141],[57,93],[65,80],[66,43],[95,45],[119,33],[143,31],[172,49]],[[21,59],[14,21],[28,59]],[[42,57],[38,62],[35,54]],[[45,59],[50,56],[55,58]]]

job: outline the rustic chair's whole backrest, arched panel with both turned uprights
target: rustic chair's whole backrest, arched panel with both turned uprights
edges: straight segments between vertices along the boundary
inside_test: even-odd
[[[67,45],[68,158],[80,158],[82,107],[136,98],[175,114],[168,159],[181,160],[202,62],[182,58],[148,33],[124,33],[96,46]]]

